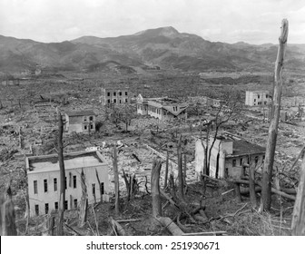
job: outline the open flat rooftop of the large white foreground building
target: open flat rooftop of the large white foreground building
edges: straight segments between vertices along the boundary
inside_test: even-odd
[[[59,171],[58,155],[28,157],[28,172]],[[96,151],[64,154],[64,169],[86,168],[104,165]]]

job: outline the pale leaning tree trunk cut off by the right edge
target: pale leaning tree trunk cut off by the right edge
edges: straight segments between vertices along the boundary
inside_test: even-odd
[[[300,171],[297,199],[292,213],[291,230],[293,236],[305,236],[305,155]]]

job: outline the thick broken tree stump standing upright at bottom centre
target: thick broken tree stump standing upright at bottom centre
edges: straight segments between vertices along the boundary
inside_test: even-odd
[[[153,170],[151,176],[151,189],[153,198],[153,217],[161,216],[161,199],[160,199],[160,171],[162,163],[153,159]]]

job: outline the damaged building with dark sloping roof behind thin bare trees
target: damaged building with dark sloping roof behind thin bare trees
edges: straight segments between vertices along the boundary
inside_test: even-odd
[[[211,138],[209,145],[212,145],[212,142],[213,139]],[[203,143],[205,144],[205,141]],[[256,166],[262,163],[265,151],[266,149],[260,145],[231,135],[219,136],[212,146],[210,176],[214,178],[240,179],[245,175],[247,170],[246,165],[249,165],[251,161],[254,161]],[[204,161],[201,139],[196,141],[195,161],[196,173],[200,175],[203,172]]]

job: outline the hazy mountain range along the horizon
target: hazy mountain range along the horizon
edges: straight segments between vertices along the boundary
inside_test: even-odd
[[[182,72],[272,72],[278,45],[210,42],[172,26],[131,35],[83,36],[62,43],[39,43],[0,35],[0,72],[25,70],[135,73],[171,69]],[[288,44],[285,68],[302,72],[305,44]]]

